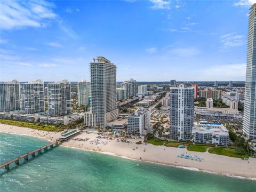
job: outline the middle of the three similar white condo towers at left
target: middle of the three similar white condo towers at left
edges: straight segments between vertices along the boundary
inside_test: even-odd
[[[44,111],[44,84],[41,80],[20,84],[20,106],[25,114]]]

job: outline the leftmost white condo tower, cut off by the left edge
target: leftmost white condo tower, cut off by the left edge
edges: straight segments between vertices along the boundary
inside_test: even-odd
[[[20,109],[20,84],[17,80],[0,82],[0,112]]]

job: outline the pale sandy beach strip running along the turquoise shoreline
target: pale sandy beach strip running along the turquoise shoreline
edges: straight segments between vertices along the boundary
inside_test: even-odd
[[[4,124],[0,124],[0,132],[30,135],[51,141],[55,141],[60,137],[60,133],[39,131]],[[243,161],[241,158],[210,154],[207,151],[205,153],[200,153],[174,147],[154,146],[151,144],[145,145],[143,142],[141,145],[137,145],[135,142],[138,140],[134,139],[129,139],[129,143],[107,139],[98,139],[97,141],[97,137],[98,134],[83,132],[69,141],[62,142],[61,145],[99,151],[101,153],[138,159],[145,162],[188,167],[186,169],[209,171],[228,176],[245,177],[256,180],[256,158],[249,158],[249,161]],[[78,141],[76,139],[83,139],[84,141]],[[197,162],[190,159],[179,158],[177,155],[180,153],[193,156],[196,155],[203,160],[202,162]]]

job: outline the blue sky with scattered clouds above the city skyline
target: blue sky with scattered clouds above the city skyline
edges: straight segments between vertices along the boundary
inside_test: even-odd
[[[0,80],[244,81],[254,0],[0,1]]]

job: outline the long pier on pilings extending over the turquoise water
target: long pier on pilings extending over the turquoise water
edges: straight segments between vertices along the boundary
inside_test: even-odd
[[[29,155],[31,155],[32,157],[36,157],[36,155],[35,155],[36,152],[38,152],[38,154],[42,154],[42,150],[47,151],[49,147],[53,148],[54,145],[58,146],[59,144],[60,144],[60,142],[52,142],[52,143],[50,143],[50,144],[48,144],[46,146],[39,147],[39,148],[37,148],[37,149],[35,149],[33,151],[30,151],[30,152],[28,152],[28,153],[26,153],[24,155],[21,155],[19,157],[16,157],[16,158],[12,159],[9,162],[3,163],[2,165],[0,165],[0,168],[5,167],[5,169],[9,170],[9,165],[11,163],[15,162],[16,165],[19,165],[20,164],[20,159],[24,158],[26,161],[28,161],[28,156]]]

